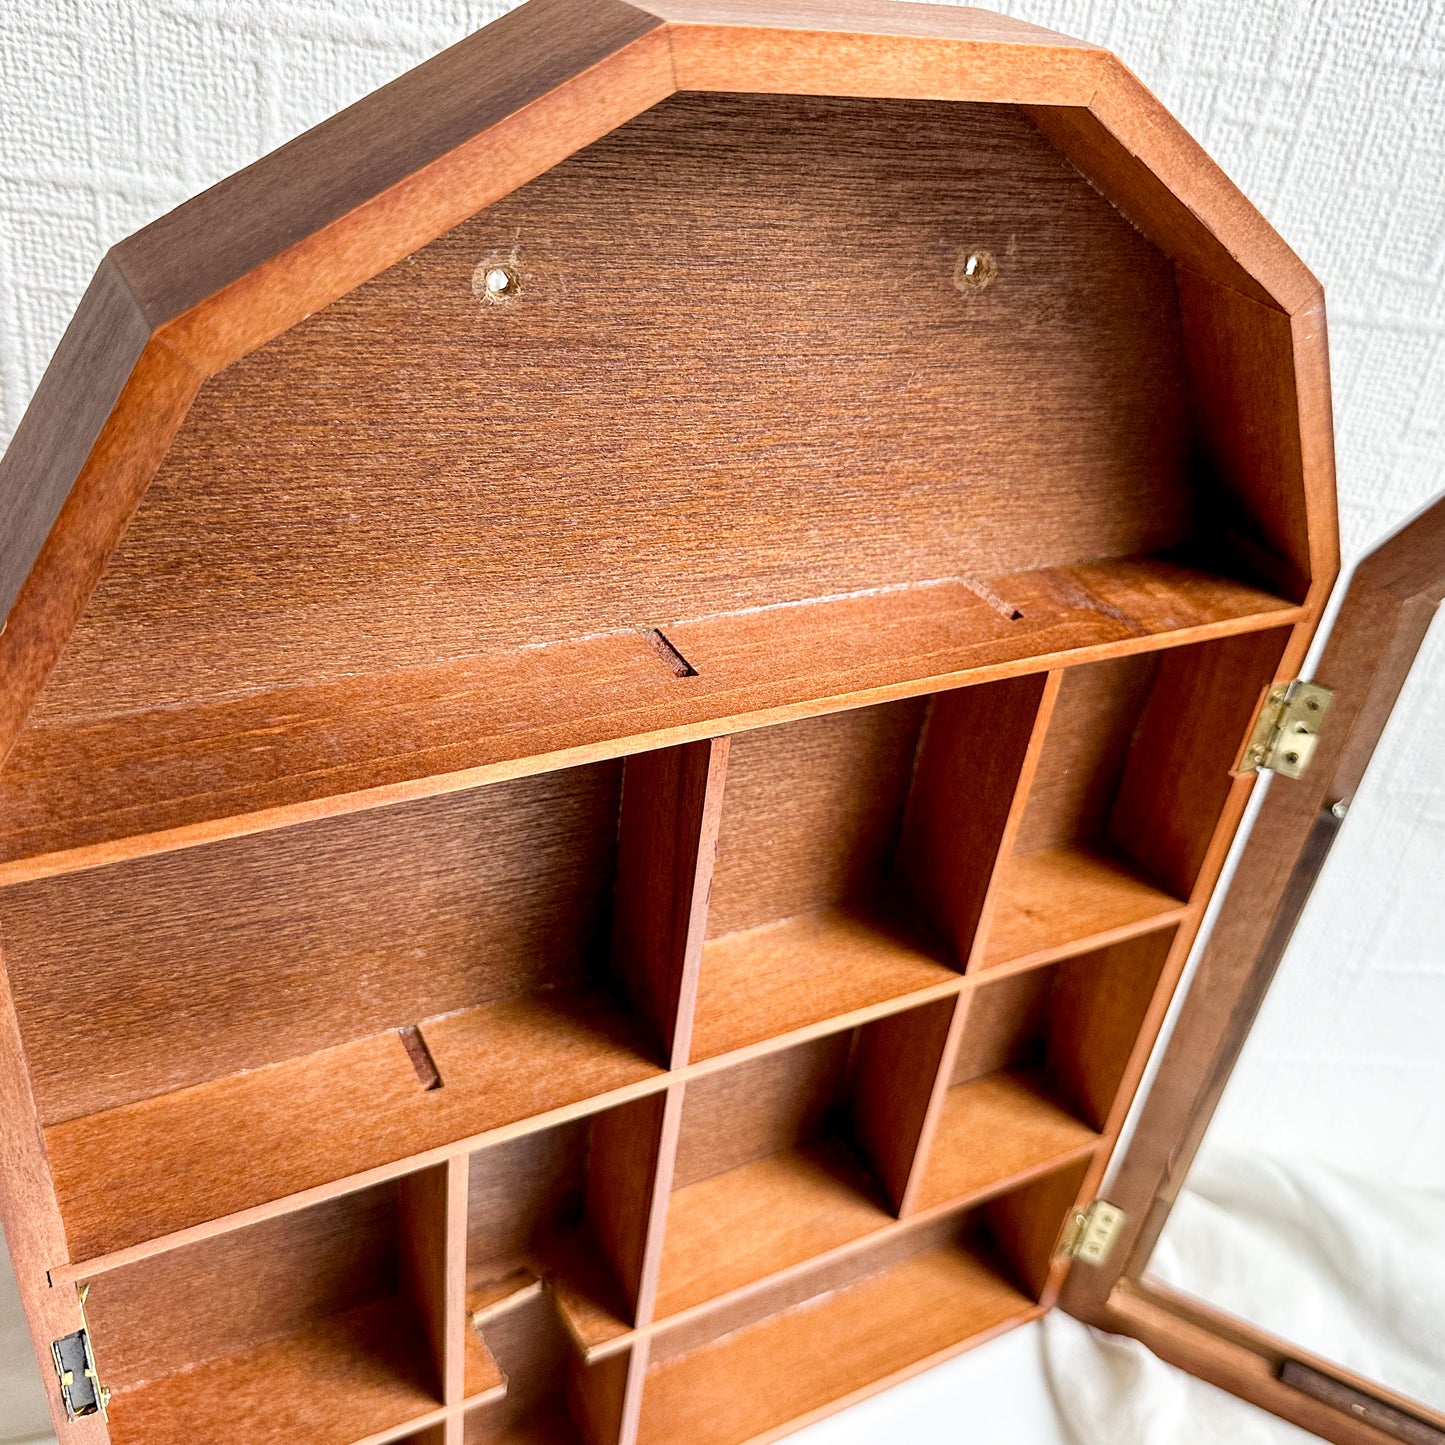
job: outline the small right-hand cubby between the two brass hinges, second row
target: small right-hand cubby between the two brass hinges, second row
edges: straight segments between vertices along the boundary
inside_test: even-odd
[[[987,1195],[1094,1149],[1143,1048],[1172,942],[1166,928],[970,988],[918,1208]]]

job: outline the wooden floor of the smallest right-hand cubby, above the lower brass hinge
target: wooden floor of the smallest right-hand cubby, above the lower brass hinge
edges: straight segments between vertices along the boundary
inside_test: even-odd
[[[1098,1139],[1053,1100],[1033,1071],[1004,1069],[955,1084],[944,1097],[916,1208],[1001,1192],[1079,1157]]]

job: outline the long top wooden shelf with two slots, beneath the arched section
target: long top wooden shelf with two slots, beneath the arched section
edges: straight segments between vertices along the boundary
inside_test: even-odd
[[[1153,556],[942,579],[188,707],[36,722],[0,773],[0,883],[1058,665],[1280,627],[1277,597]],[[655,731],[663,730],[663,731]]]

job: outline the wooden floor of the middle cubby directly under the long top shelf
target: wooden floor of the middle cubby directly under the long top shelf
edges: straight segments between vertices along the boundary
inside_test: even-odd
[[[883,1004],[905,1007],[958,985],[958,972],[907,935],[860,913],[824,909],[715,938],[702,946],[692,1058]]]

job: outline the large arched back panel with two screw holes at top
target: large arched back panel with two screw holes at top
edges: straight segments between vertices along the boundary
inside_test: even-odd
[[[676,97],[208,381],[35,720],[1162,549],[1182,357],[1017,108]]]

